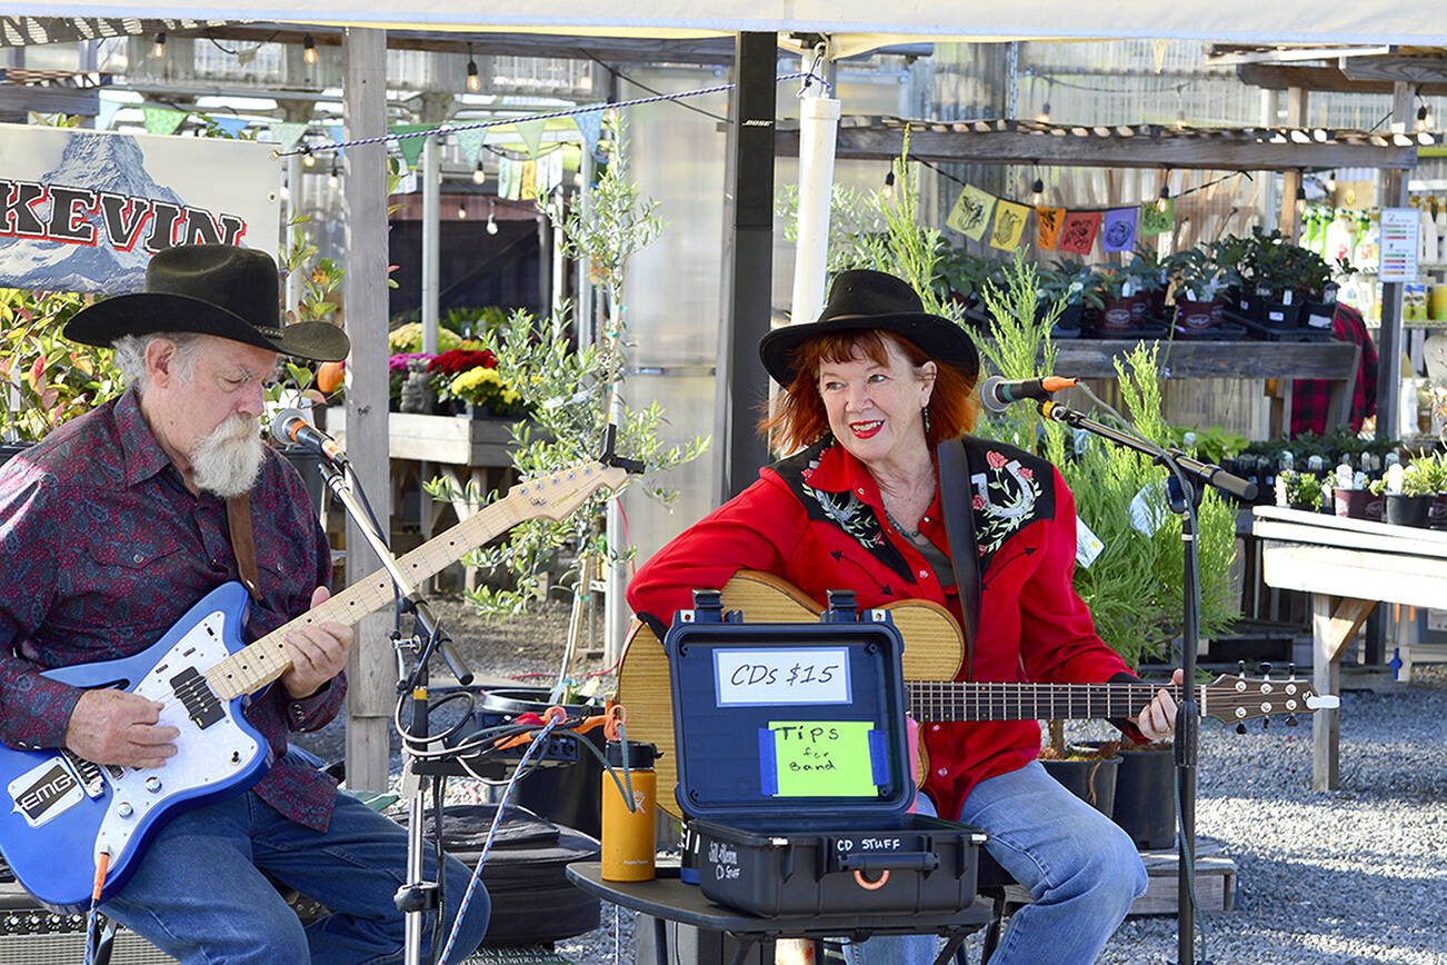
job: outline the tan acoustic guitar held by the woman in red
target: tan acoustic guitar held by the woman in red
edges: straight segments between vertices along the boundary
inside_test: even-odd
[[[750,624],[813,624],[820,608],[799,587],[757,570],[739,570],[724,586],[724,611],[741,611]],[[920,722],[1042,720],[1134,718],[1156,692],[1179,699],[1185,684],[1153,683],[959,683],[965,657],[964,638],[954,615],[930,600],[899,600],[887,609],[904,639],[901,664],[910,715]],[[1220,676],[1194,686],[1202,716],[1224,723],[1278,713],[1308,713],[1337,706],[1337,697],[1318,696],[1299,680],[1249,680]],[[679,783],[673,745],[673,693],[669,657],[642,622],[628,632],[618,668],[616,699],[627,707],[629,741],[657,744],[663,757],[654,764],[658,807],[683,817],[673,793]],[[925,742],[920,741],[920,754]],[[928,764],[919,773],[928,773]]]

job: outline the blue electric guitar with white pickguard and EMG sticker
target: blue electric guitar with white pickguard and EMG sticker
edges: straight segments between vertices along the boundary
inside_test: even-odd
[[[508,495],[398,560],[420,584],[467,551],[527,519],[561,519],[596,489],[616,489],[625,472],[586,463]],[[146,842],[172,815],[237,794],[271,767],[266,739],[242,716],[243,700],[291,667],[282,639],[292,629],[355,624],[391,605],[385,570],[337,593],[285,626],[243,645],[250,598],[240,583],[205,595],[146,650],[123,660],[45,673],[74,687],[119,687],[165,705],[161,725],[181,731],[162,768],[98,765],[69,751],[19,751],[0,744],[0,852],[25,888],[45,904],[80,910],[97,870],[109,864],[101,900],[119,891]],[[3,712],[3,709],[0,709]]]

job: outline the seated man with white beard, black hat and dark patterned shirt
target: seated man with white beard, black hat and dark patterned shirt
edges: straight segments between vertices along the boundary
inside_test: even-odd
[[[275,262],[226,245],[155,255],[143,292],[82,310],[65,336],[111,346],[129,386],[0,472],[0,741],[164,768],[181,732],[161,725],[161,703],[42,671],[140,652],[229,580],[250,579],[245,642],[328,598],[326,535],[260,417],[282,356],[339,360],[349,343],[328,323],[282,326]],[[181,962],[402,959],[404,829],[287,757],[288,732],[341,707],[352,639],[334,622],[287,634],[289,667],[245,710],[273,767],[249,790],[168,815],[103,913]],[[91,845],[77,855],[88,864]],[[443,878],[450,927],[470,874],[449,856]],[[273,880],[331,914],[302,927]],[[478,946],[489,911],[479,888],[450,962]]]

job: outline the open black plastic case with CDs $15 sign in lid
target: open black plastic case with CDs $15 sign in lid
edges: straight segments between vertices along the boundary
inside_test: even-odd
[[[899,631],[829,602],[819,624],[745,624],[700,590],[664,638],[699,884],[763,916],[964,909],[985,835],[907,813]]]

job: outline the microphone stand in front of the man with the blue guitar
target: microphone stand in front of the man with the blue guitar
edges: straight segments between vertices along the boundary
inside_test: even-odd
[[[386,570],[388,576],[392,577],[392,584],[396,593],[401,596],[401,603],[398,606],[399,612],[411,612],[415,621],[414,635],[417,639],[425,639],[425,642],[418,648],[417,663],[412,671],[405,673],[404,658],[401,650],[398,650],[398,692],[412,693],[412,716],[411,716],[411,734],[412,736],[425,738],[427,731],[427,683],[428,673],[427,664],[434,652],[440,652],[447,667],[457,677],[457,681],[463,686],[472,683],[473,676],[467,668],[466,661],[457,654],[451,647],[451,639],[441,631],[437,619],[433,616],[431,609],[423,599],[421,592],[407,579],[401,567],[396,564],[396,558],[392,556],[386,540],[379,532],[379,524],[373,518],[370,508],[365,505],[365,496],[362,501],[357,499],[356,493],[352,490],[352,485],[347,482],[346,473],[337,469],[337,466],[330,459],[321,460],[321,473],[327,480],[327,486],[336,495],[337,501],[346,508],[347,514],[357,524],[357,530],[370,544],[372,551],[376,553],[378,558],[382,561],[382,567]],[[410,742],[402,742],[402,752],[411,757]],[[408,770],[412,770],[415,761],[408,761]],[[415,771],[414,771],[415,773]],[[434,788],[440,783],[440,777],[434,781]],[[441,810],[443,800],[441,794],[436,793],[437,806],[437,828],[438,839],[441,839]],[[418,775],[417,790],[412,793],[412,800],[408,809],[407,822],[407,883],[396,890],[395,903],[396,907],[405,914],[405,939],[404,939],[404,958],[405,965],[423,965],[423,924],[424,914],[431,911],[436,920],[440,922],[441,907],[438,901],[440,884],[438,881],[424,881],[424,858],[425,858],[425,835],[423,830],[423,799],[424,788],[421,777]],[[441,875],[441,861],[437,864],[437,877]],[[438,953],[437,942],[433,942],[433,956]]]

